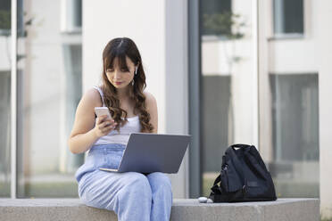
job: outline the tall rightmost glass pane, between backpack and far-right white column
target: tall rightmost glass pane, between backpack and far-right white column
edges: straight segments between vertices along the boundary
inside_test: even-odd
[[[319,197],[318,3],[260,3],[261,154],[278,197]]]

